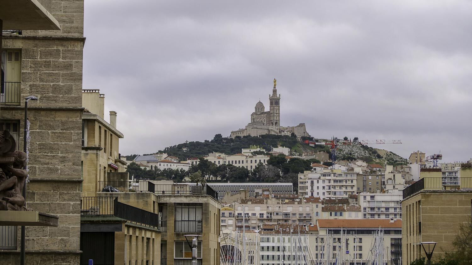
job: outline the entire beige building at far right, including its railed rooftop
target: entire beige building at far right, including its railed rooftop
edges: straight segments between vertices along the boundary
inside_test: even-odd
[[[472,213],[472,164],[462,164],[458,181],[441,169],[421,169],[419,181],[403,190],[402,259],[405,264],[425,257],[420,242],[437,242],[432,259],[453,251],[460,225]]]

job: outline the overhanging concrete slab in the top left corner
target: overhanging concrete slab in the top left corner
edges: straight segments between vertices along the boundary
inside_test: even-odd
[[[0,0],[2,30],[60,30],[59,22],[38,0]]]

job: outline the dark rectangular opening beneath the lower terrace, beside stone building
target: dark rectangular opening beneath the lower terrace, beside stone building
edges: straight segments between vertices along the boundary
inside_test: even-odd
[[[93,265],[115,264],[115,232],[82,232],[80,233],[80,264]]]

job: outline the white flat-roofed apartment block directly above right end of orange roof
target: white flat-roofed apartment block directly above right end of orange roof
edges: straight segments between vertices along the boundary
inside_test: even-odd
[[[401,219],[402,193],[359,193],[363,219]]]

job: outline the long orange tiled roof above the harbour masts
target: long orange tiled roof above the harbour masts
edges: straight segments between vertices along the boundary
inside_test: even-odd
[[[402,228],[402,220],[390,219],[318,219],[320,228]]]

